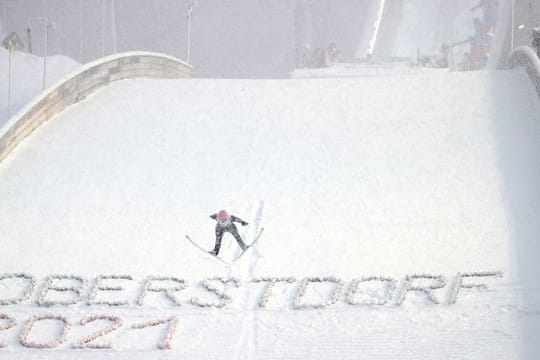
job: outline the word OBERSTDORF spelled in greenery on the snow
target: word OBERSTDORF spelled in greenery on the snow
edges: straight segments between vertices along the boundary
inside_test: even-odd
[[[338,302],[351,306],[399,306],[413,293],[423,296],[431,304],[453,305],[463,289],[486,289],[484,280],[502,276],[500,271],[488,271],[457,273],[451,277],[434,274],[408,274],[400,279],[362,276],[348,282],[334,276],[298,280],[294,277],[259,277],[246,281],[211,277],[190,282],[174,276],[148,276],[137,280],[131,275],[98,275],[89,281],[78,275],[57,274],[47,276],[38,286],[38,280],[31,274],[8,273],[0,275],[0,306],[155,307],[159,304],[170,307],[191,304],[223,308],[235,302],[235,289],[238,288],[260,293],[259,308],[278,300],[295,310],[324,308]],[[278,295],[275,291],[278,285],[281,293],[291,296]]]

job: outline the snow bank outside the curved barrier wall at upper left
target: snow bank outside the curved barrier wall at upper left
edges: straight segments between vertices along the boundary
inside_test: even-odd
[[[0,127],[8,120],[9,52],[0,47]],[[46,88],[80,66],[62,55],[47,57]],[[43,57],[11,53],[11,116],[43,91]]]

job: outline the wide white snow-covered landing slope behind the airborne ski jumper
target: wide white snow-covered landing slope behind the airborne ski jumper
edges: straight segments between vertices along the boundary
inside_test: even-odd
[[[101,296],[127,304],[46,308],[36,290],[0,307],[19,322],[0,333],[0,358],[535,359],[539,112],[519,71],[137,80],[100,90],[0,164],[1,271],[30,273],[38,289],[51,274],[83,276],[84,299],[97,275],[122,275],[107,285],[125,290]],[[247,239],[265,228],[230,267],[184,239],[212,248],[208,215],[220,208],[250,222]],[[222,256],[237,251],[226,237]],[[457,273],[474,276],[453,294]],[[150,275],[187,280],[176,293],[182,306],[154,293],[137,305]],[[395,280],[394,291],[384,281],[351,286],[374,275]],[[224,287],[231,302],[193,305],[219,300],[200,284],[215,276],[239,281]],[[261,306],[261,277],[294,280]],[[300,304],[324,304],[337,279],[343,292],[297,309],[306,277],[327,281],[310,283]],[[21,296],[3,284],[0,299]],[[48,298],[73,296],[65,292]],[[384,304],[356,304],[373,301]],[[56,349],[18,341],[41,313],[73,322]],[[73,349],[91,332],[79,319],[95,313],[123,319],[107,338],[114,349]],[[163,325],[131,328],[171,316],[170,350],[156,348]],[[58,336],[57,325],[36,327],[32,339]]]

